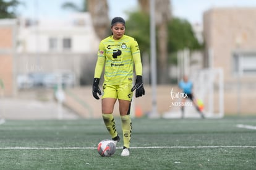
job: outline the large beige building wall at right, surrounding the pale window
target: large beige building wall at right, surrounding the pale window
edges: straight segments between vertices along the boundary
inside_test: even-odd
[[[256,56],[255,16],[255,7],[213,8],[203,14],[205,49],[213,50],[212,66],[223,69],[225,113],[256,114],[256,74],[234,72],[234,54]]]

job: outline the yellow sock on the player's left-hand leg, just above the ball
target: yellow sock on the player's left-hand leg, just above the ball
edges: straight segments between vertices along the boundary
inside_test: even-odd
[[[106,125],[106,129],[108,129],[109,134],[112,138],[117,136],[116,131],[116,122],[114,121],[113,114],[102,114],[103,121]]]

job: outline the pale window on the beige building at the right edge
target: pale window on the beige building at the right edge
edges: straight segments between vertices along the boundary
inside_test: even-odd
[[[233,72],[237,75],[256,75],[256,51],[254,53],[234,53]]]

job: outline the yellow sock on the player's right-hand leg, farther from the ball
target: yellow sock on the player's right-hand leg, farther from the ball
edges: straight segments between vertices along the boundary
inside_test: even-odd
[[[130,137],[132,135],[132,121],[130,120],[130,115],[121,116],[121,120],[124,147],[130,148]]]

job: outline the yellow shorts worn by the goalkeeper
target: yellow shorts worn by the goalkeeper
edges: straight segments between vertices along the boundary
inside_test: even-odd
[[[132,83],[123,85],[108,85],[103,83],[102,98],[118,98],[121,100],[132,100]]]

